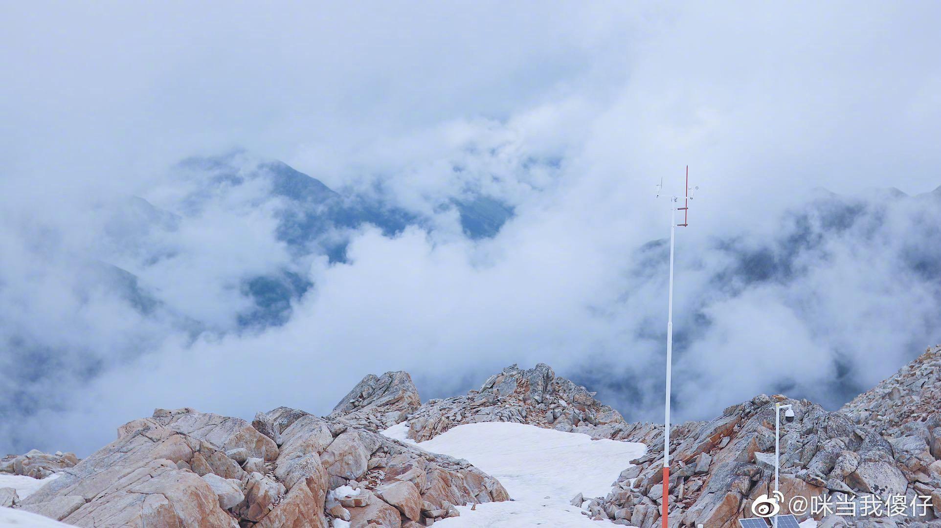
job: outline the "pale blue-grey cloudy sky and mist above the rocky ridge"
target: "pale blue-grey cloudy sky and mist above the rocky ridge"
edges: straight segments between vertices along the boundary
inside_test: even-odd
[[[668,234],[654,184],[679,191],[686,165],[701,188],[678,239],[677,324],[711,326],[678,358],[681,417],[788,388],[838,405],[822,389],[834,358],[865,390],[941,339],[936,281],[905,261],[941,244],[937,208],[871,190],[941,185],[938,20],[928,2],[6,3],[0,360],[22,370],[10,340],[32,336],[68,379],[16,413],[0,451],[87,453],[155,407],[325,412],[369,372],[447,395],[517,361],[586,378],[614,365],[602,384],[644,395],[613,403],[656,419],[663,268],[650,279],[636,255]],[[233,148],[434,227],[364,229],[347,264],[297,262],[267,189],[247,186],[172,237],[111,236],[128,196],[183,215],[171,167]],[[493,239],[435,207],[469,186],[516,208]],[[730,258],[717,240],[787,239],[788,211],[820,188],[878,225],[802,254],[800,280],[715,288]],[[179,319],[129,311],[96,289],[96,262],[219,331],[194,341]],[[229,331],[245,302],[231,282],[285,263],[315,284],[291,320]],[[79,356],[94,366],[70,372]],[[729,361],[751,366],[729,375]]]

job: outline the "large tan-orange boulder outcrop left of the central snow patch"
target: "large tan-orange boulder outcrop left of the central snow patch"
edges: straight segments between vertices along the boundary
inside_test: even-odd
[[[238,418],[157,409],[15,507],[77,526],[327,528],[433,521],[453,504],[508,499],[467,461],[342,418],[276,408],[256,422],[278,441]],[[355,504],[328,499],[342,487],[360,491]]]

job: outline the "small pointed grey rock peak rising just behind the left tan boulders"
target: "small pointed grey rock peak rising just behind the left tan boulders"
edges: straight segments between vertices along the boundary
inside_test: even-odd
[[[387,372],[379,377],[370,374],[343,396],[329,418],[382,430],[404,422],[421,405],[418,389],[407,372]]]

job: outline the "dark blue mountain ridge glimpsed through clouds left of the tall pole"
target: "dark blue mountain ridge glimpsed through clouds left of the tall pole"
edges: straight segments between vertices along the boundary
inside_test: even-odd
[[[241,152],[230,152],[187,158],[174,170],[198,182],[196,190],[183,199],[183,214],[197,214],[204,201],[211,200],[216,193],[225,192],[224,188],[263,182],[270,189],[272,198],[284,200],[278,207],[277,236],[297,258],[324,254],[331,263],[343,263],[348,242],[343,231],[367,224],[379,228],[387,236],[402,232],[409,225],[429,229],[427,219],[422,216],[375,198],[342,195],[277,160],[256,161],[244,158]],[[457,208],[465,234],[474,240],[495,236],[514,214],[513,208],[502,201],[480,195],[470,200],[455,198],[443,206]],[[130,239],[132,235],[139,237],[154,229],[172,232],[178,228],[182,218],[139,197],[131,198],[121,215],[109,225],[122,240]],[[118,233],[118,230],[125,232]],[[135,279],[130,272],[121,271],[129,279]],[[239,325],[250,328],[283,324],[290,317],[292,301],[303,296],[311,285],[309,280],[289,268],[275,275],[247,278],[241,284],[241,290],[253,300],[254,309],[239,315]],[[149,298],[136,285],[129,285],[126,295]]]

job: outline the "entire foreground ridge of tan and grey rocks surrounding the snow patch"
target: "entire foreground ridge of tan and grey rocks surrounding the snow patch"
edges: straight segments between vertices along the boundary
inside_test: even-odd
[[[780,489],[786,497],[852,502],[854,518],[821,526],[877,526],[867,503],[928,497],[891,523],[941,523],[941,348],[861,394],[838,412],[782,395],[758,395],[707,422],[671,429],[671,478],[662,482],[662,425],[626,424],[612,408],[548,365],[516,365],[478,391],[420,405],[410,376],[366,376],[327,417],[275,408],[246,421],[192,408],[157,409],[119,428],[119,438],[77,461],[31,452],[0,470],[55,480],[25,499],[0,501],[79,526],[428,525],[458,515],[455,504],[507,500],[499,482],[466,460],[425,452],[377,432],[407,421],[429,440],[459,424],[515,422],[595,439],[639,441],[646,454],[621,472],[603,498],[572,504],[615,524],[660,523],[662,489],[670,525],[726,528],[750,516],[774,476],[774,406],[793,406],[780,424]],[[76,463],[77,462],[77,463]],[[782,504],[789,512],[789,504]],[[808,512],[793,512],[805,519]],[[883,523],[883,524],[880,524]]]

